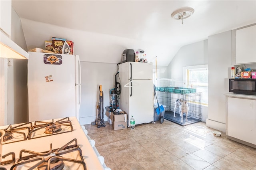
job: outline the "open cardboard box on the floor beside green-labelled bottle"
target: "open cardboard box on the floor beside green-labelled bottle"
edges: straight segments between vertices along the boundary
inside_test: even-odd
[[[114,130],[126,129],[127,128],[127,114],[122,115],[110,115],[112,120],[112,126]]]

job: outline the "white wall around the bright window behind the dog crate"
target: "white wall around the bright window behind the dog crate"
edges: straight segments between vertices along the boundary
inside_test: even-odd
[[[208,40],[181,47],[168,65],[168,78],[183,81],[183,67],[208,64]],[[206,122],[208,107],[202,107],[202,120]]]

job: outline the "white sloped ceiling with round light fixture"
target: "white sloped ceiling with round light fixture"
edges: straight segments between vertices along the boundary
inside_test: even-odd
[[[174,20],[181,7],[194,14]],[[167,66],[184,45],[256,23],[256,0],[12,0],[28,49],[51,37],[74,41],[82,61],[118,63],[127,48]]]

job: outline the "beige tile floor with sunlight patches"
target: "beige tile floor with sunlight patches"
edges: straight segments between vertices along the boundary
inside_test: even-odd
[[[168,120],[114,130],[85,125],[112,170],[256,170],[256,149],[213,136],[203,122],[182,127]]]

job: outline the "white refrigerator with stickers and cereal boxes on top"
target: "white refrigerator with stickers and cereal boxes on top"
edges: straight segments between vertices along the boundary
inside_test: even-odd
[[[28,52],[28,120],[80,119],[78,55]]]

